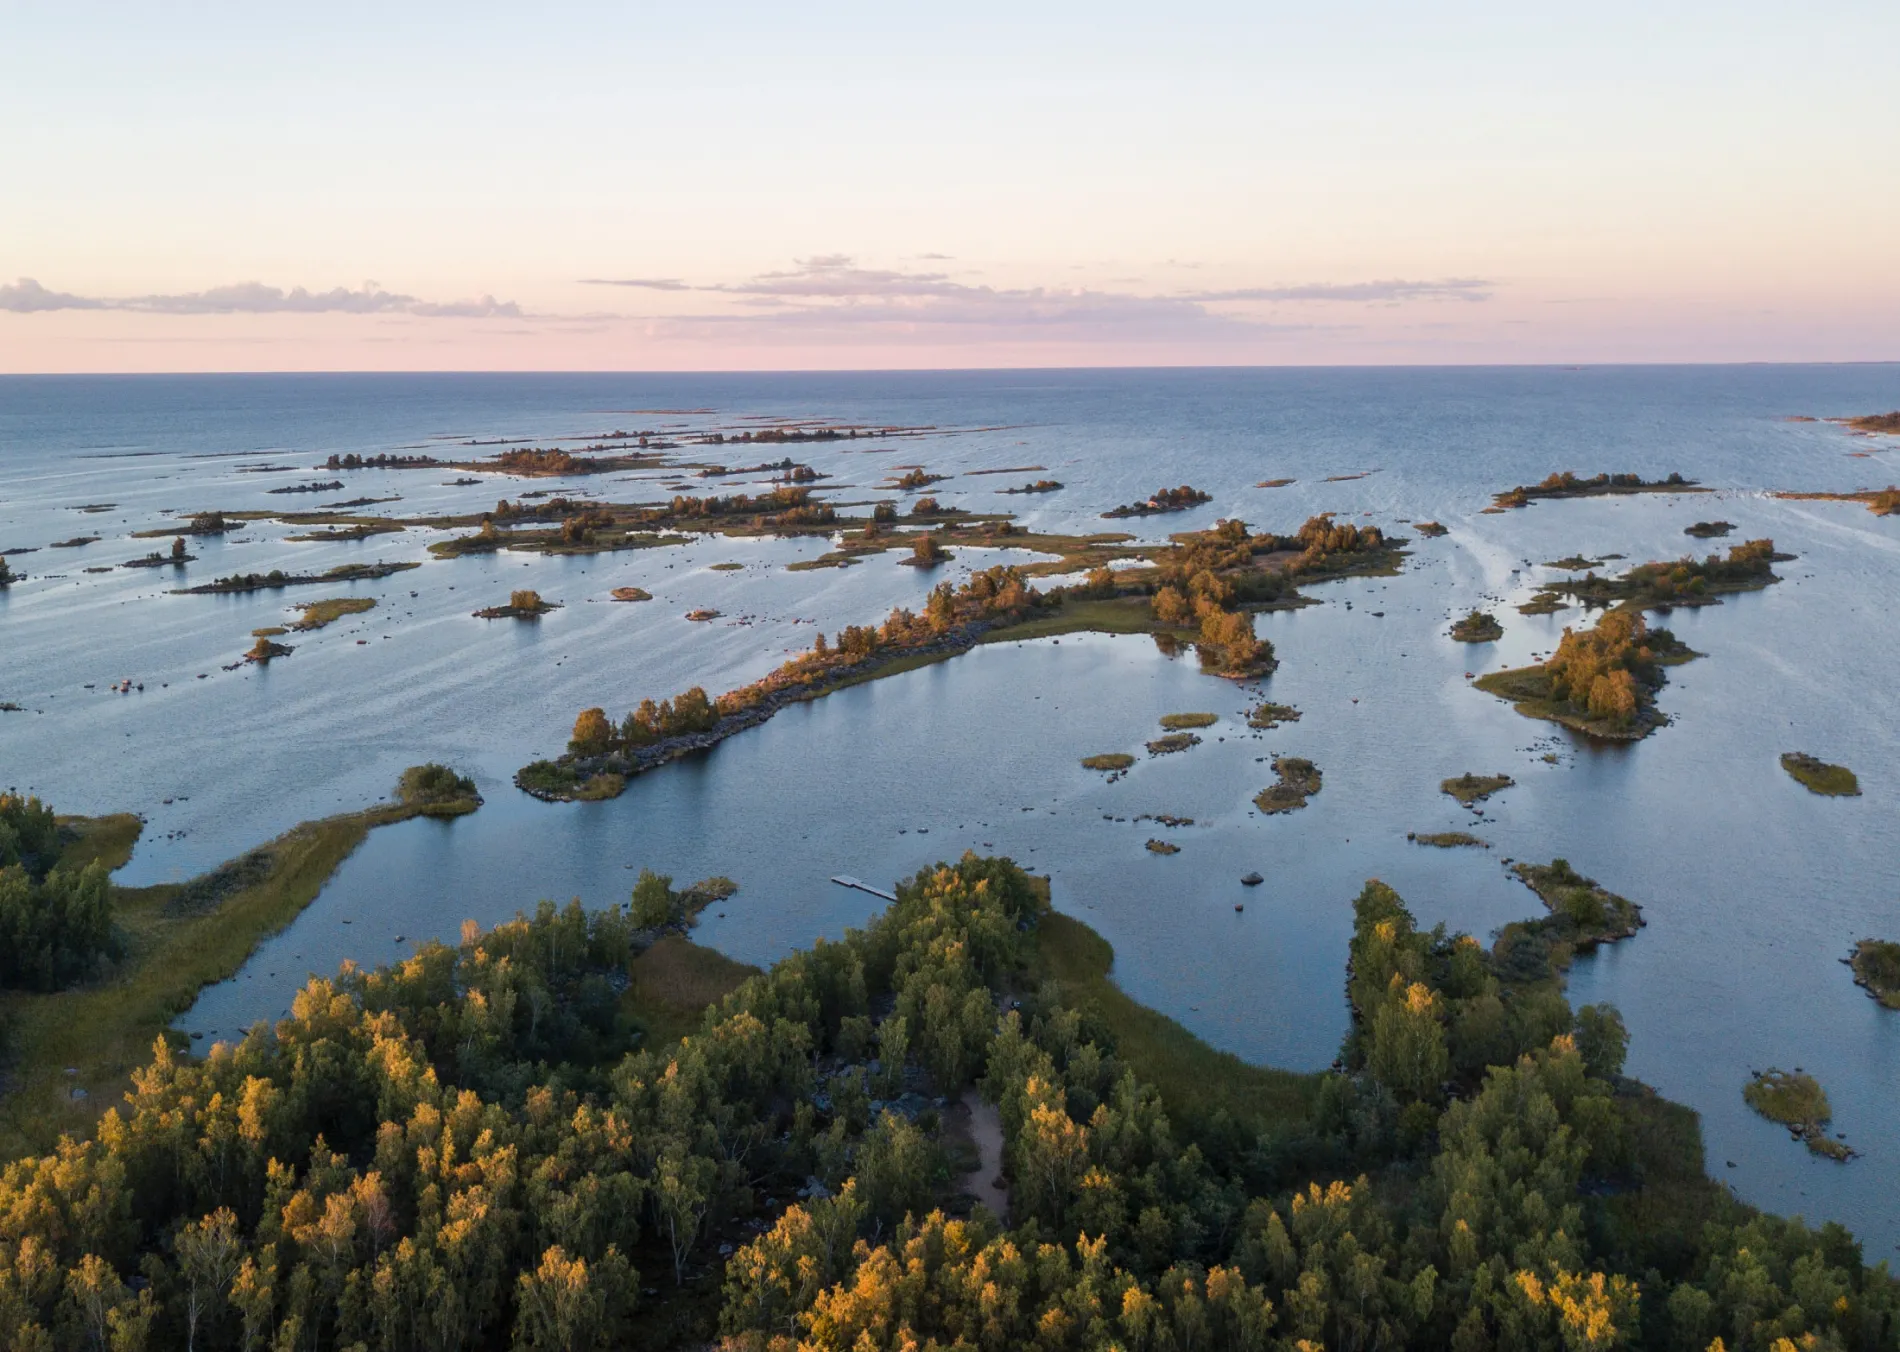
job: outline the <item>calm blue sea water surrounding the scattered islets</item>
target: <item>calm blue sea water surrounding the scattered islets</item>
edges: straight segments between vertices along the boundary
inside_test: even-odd
[[[308,972],[344,957],[384,961],[543,896],[621,900],[640,866],[737,879],[741,892],[707,913],[699,938],[766,963],[878,904],[830,875],[885,881],[980,849],[1051,872],[1056,904],[1115,944],[1117,978],[1138,999],[1252,1060],[1315,1069],[1345,1029],[1349,902],[1366,877],[1398,887],[1425,923],[1484,934],[1539,910],[1501,858],[1566,856],[1649,919],[1577,965],[1571,1001],[1623,1008],[1630,1073],[1702,1113],[1716,1177],[1761,1206],[1854,1227],[1877,1259],[1900,1244],[1900,1014],[1856,989],[1839,959],[1860,936],[1900,938],[1900,627],[1889,617],[1900,522],[1763,490],[1900,479],[1879,450],[1900,439],[1786,422],[1896,404],[1894,366],[8,378],[0,549],[36,553],[10,553],[28,579],[0,592],[0,701],[27,708],[0,714],[0,784],[61,811],[146,813],[124,872],[146,883],[374,801],[405,765],[443,760],[477,777],[481,813],[372,834],[289,930],[182,1020],[222,1035],[279,1014]],[[443,562],[428,560],[429,532],[285,543],[294,528],[277,524],[198,541],[192,577],[428,562],[380,583],[251,596],[171,596],[167,572],[86,572],[146,553],[129,532],[167,513],[401,496],[386,511],[416,515],[530,488],[359,471],[338,494],[268,494],[329,479],[312,467],[331,452],[446,454],[454,439],[547,444],[749,416],[990,429],[893,450],[800,448],[836,475],[825,486],[842,499],[872,496],[893,465],[923,463],[956,475],[939,498],[1007,503],[1051,530],[1100,528],[1106,507],[1191,482],[1214,501],[1134,530],[1159,539],[1218,516],[1292,530],[1334,511],[1398,530],[1436,518],[1452,535],[1416,541],[1398,577],[1315,587],[1324,606],[1260,619],[1282,663],[1264,693],[1305,712],[1273,733],[1239,718],[1254,695],[1148,638],[1070,636],[855,687],[642,777],[612,803],[560,807],[517,794],[509,775],[559,750],[578,708],[618,714],[690,684],[726,689],[809,646],[813,621],[834,630],[916,606],[935,579],[895,554],[785,572],[823,541]],[[1068,486],[998,498],[1013,479],[963,477],[1016,465]],[[1682,471],[1718,492],[1476,515],[1493,490],[1552,469]],[[1326,482],[1336,475],[1364,477]],[[1262,479],[1298,482],[1254,488]],[[663,496],[661,482],[532,486],[644,499]],[[1448,640],[1450,617],[1522,600],[1550,575],[1541,560],[1702,549],[1682,528],[1710,516],[1733,520],[1733,539],[1773,535],[1799,560],[1765,592],[1666,621],[1708,653],[1672,674],[1670,727],[1592,748],[1467,687],[1467,672],[1550,649],[1575,611],[1505,606],[1505,640],[1480,648]],[[103,539],[48,547],[76,535]],[[1003,556],[971,551],[956,568]],[[743,568],[714,572],[720,562]],[[621,585],[657,600],[608,602]],[[564,606],[538,625],[469,617],[513,587]],[[296,653],[268,670],[224,670],[289,602],[334,591],[380,604],[293,636]],[[726,619],[684,621],[695,606]],[[110,693],[125,676],[144,689]],[[1079,769],[1092,752],[1140,752],[1157,718],[1178,710],[1224,722],[1191,752],[1144,758],[1113,784]],[[1864,796],[1807,794],[1778,769],[1784,750],[1851,765]],[[1324,788],[1303,811],[1262,818],[1250,799],[1281,752],[1315,760]],[[1436,792],[1465,769],[1518,780],[1476,826]],[[1134,820],[1144,813],[1195,824],[1163,830]],[[1493,849],[1406,841],[1446,828]],[[1148,853],[1150,836],[1182,853]],[[1241,889],[1248,870],[1267,883]],[[1816,1160],[1752,1117],[1740,1088],[1767,1065],[1820,1077],[1862,1158]]]

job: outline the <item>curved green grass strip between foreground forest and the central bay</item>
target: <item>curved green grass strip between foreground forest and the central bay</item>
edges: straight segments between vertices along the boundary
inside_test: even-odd
[[[1037,976],[1053,978],[1066,1005],[1089,1006],[1115,1037],[1115,1054],[1155,1086],[1168,1115],[1193,1130],[1227,1113],[1258,1132],[1303,1124],[1319,1092],[1317,1075],[1248,1065],[1115,986],[1115,949],[1070,915],[1049,911],[1036,929]]]

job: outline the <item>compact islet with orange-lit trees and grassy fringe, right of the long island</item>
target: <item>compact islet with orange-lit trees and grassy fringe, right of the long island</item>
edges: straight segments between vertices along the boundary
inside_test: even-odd
[[[1550,661],[1480,676],[1478,689],[1509,699],[1526,718],[1543,718],[1590,737],[1636,741],[1668,720],[1655,706],[1664,668],[1697,657],[1640,611],[1611,610],[1592,630],[1566,629]]]

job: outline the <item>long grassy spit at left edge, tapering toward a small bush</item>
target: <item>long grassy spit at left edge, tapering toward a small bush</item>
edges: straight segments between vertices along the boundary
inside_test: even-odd
[[[61,1134],[87,1132],[120,1101],[131,1071],[150,1061],[152,1042],[192,1006],[198,991],[234,976],[258,940],[296,919],[372,828],[439,809],[384,805],[304,822],[251,851],[256,864],[224,866],[226,875],[241,881],[234,891],[194,892],[192,883],[114,887],[127,957],[110,980],[0,999],[0,1023],[10,1035],[0,1158],[46,1153]],[[127,817],[74,824],[80,839],[66,858],[124,864],[137,839],[135,826],[137,818]],[[203,894],[209,904],[201,908],[175,906]],[[74,1090],[84,1096],[74,1098]]]

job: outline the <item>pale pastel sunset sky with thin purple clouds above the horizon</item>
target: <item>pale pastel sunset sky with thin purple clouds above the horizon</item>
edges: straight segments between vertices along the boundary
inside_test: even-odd
[[[1892,0],[0,0],[0,372],[1896,361],[1896,51]]]

